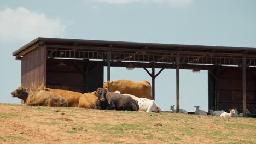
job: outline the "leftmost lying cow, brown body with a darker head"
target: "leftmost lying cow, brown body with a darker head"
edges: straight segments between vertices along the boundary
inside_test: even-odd
[[[63,106],[67,107],[68,102],[65,98],[62,98],[60,95],[44,91],[44,90],[30,90],[27,91],[26,88],[18,87],[15,91],[11,92],[11,95],[15,98],[22,99],[25,105],[34,105],[34,106]]]

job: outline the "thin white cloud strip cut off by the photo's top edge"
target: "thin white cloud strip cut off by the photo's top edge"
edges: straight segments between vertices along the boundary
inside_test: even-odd
[[[173,7],[186,7],[192,3],[192,0],[96,0],[98,2],[110,4],[129,4],[129,3],[156,3],[169,4]]]

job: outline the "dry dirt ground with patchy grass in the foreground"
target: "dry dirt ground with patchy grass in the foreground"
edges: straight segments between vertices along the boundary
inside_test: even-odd
[[[256,119],[0,103],[0,143],[256,143]]]

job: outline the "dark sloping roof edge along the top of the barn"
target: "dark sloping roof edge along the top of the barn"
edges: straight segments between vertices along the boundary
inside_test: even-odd
[[[34,44],[59,44],[59,45],[79,45],[100,47],[129,47],[130,49],[152,49],[152,50],[177,50],[194,52],[223,52],[223,53],[245,53],[256,56],[256,49],[253,47],[231,47],[231,46],[206,46],[206,45],[183,45],[183,44],[159,44],[159,43],[137,43],[126,41],[105,41],[105,40],[84,40],[84,39],[62,39],[62,38],[42,38],[38,37],[30,43],[22,46],[13,52],[13,56],[25,51]],[[24,53],[25,55],[26,53]]]

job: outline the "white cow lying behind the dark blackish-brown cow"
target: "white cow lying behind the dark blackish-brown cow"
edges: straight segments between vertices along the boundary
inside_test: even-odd
[[[120,93],[119,91],[115,91],[115,93]],[[146,111],[146,112],[161,112],[160,107],[155,103],[154,100],[150,100],[147,98],[138,98],[131,94],[123,94],[126,96],[130,96],[132,99],[136,100],[139,105],[138,111]]]

